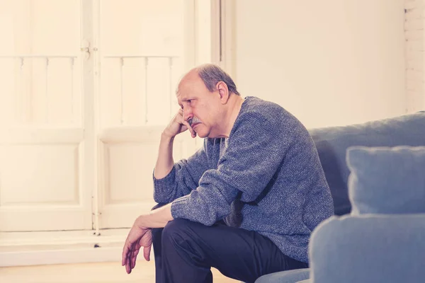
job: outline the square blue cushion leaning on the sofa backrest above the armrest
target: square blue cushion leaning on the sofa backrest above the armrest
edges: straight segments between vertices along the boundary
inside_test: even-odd
[[[425,146],[353,146],[346,159],[352,214],[425,213]]]

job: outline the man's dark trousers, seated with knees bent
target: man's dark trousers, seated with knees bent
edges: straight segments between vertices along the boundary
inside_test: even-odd
[[[272,272],[308,267],[284,255],[265,236],[222,222],[205,226],[174,219],[152,229],[152,240],[157,283],[209,283],[211,267],[247,283]]]

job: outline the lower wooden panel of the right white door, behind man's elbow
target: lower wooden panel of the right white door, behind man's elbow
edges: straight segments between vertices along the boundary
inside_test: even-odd
[[[154,207],[153,169],[157,160],[162,127],[115,128],[100,136],[99,226],[124,228]],[[200,139],[188,133],[174,141],[174,161],[196,151]]]

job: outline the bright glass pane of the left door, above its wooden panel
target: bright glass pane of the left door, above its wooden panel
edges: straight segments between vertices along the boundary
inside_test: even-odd
[[[80,4],[0,0],[2,124],[79,123]]]

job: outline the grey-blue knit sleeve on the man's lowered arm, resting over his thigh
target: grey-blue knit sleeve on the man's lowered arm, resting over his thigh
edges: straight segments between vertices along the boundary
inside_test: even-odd
[[[196,190],[171,204],[174,218],[210,226],[230,213],[239,192],[242,202],[256,200],[278,171],[290,134],[276,131],[280,125],[256,113],[241,116],[235,126],[217,169],[206,171]]]

